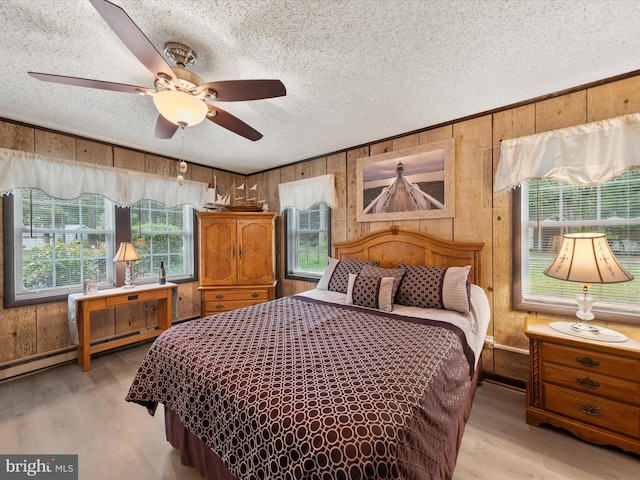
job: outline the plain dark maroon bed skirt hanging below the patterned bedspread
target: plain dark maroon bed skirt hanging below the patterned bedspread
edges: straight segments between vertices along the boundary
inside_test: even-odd
[[[447,450],[443,452],[443,461],[440,464],[442,467],[440,478],[442,480],[449,480],[453,476],[464,427],[471,414],[476,387],[481,381],[482,357],[478,361],[467,400],[458,415],[456,428],[449,436]],[[175,412],[165,407],[164,419],[167,441],[180,451],[180,460],[183,465],[194,467],[205,480],[239,480],[229,472],[220,457],[218,457],[213,450],[186,429]]]

